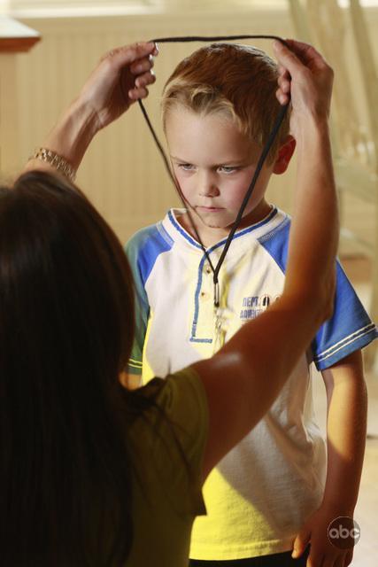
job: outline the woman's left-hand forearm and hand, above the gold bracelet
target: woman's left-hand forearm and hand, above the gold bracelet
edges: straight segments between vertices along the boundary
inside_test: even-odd
[[[155,82],[154,43],[134,43],[109,51],[96,66],[66,112],[44,140],[42,148],[56,153],[73,168],[81,164],[96,133],[117,120],[138,98],[148,95]],[[57,166],[30,159],[26,170],[43,169],[57,173]]]

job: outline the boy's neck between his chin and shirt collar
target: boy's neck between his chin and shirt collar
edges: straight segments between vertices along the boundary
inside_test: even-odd
[[[253,224],[257,224],[258,222],[263,221],[271,211],[272,206],[266,203],[265,199],[262,199],[258,203],[258,206],[256,206],[251,211],[251,213],[243,217],[238,230],[246,229],[247,227],[251,227]],[[192,217],[196,222],[198,235],[201,238],[202,244],[206,249],[211,248],[213,245],[216,245],[218,242],[220,242],[220,240],[227,238],[230,230],[232,229],[232,225],[225,227],[224,229],[208,227],[201,221],[197,214],[192,213]],[[197,240],[197,237],[194,234],[191,223],[189,221],[188,214],[181,214],[177,218],[177,221],[181,224],[183,229],[189,232],[191,237]]]

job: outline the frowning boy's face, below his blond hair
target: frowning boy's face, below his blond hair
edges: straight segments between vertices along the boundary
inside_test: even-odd
[[[229,229],[255,172],[261,148],[224,114],[197,114],[176,106],[166,116],[174,175],[203,228]],[[264,198],[273,165],[258,176],[242,226],[258,222],[270,207]]]

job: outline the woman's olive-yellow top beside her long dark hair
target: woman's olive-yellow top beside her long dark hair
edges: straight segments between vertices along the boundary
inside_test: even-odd
[[[130,567],[187,567],[193,520],[205,513],[202,462],[208,431],[203,384],[191,369],[135,392],[153,401],[127,441],[133,466]]]

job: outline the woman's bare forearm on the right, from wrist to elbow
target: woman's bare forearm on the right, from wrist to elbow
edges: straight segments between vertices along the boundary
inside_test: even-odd
[[[297,128],[295,214],[286,290],[330,295],[338,243],[338,212],[328,120],[310,117]]]

